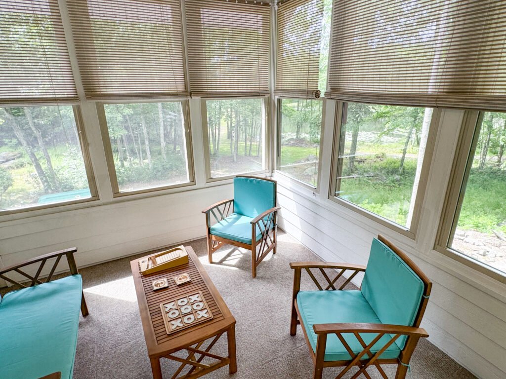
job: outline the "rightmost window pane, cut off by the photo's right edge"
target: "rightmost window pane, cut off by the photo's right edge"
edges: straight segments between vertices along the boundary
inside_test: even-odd
[[[472,133],[473,131],[471,131]],[[506,273],[506,113],[484,112],[466,154],[447,247]],[[469,145],[468,145],[469,146]],[[455,209],[455,208],[453,208]]]

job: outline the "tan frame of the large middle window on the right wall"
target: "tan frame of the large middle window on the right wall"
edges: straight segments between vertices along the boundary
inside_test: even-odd
[[[389,220],[386,217],[373,213],[371,211],[366,210],[352,202],[344,200],[339,196],[335,196],[335,188],[337,184],[337,173],[340,167],[340,159],[339,159],[339,148],[341,143],[341,129],[343,124],[343,115],[345,106],[347,106],[348,101],[339,100],[336,101],[336,111],[334,116],[334,135],[332,141],[332,162],[330,165],[330,185],[329,185],[329,193],[328,199],[332,202],[342,205],[361,216],[365,216],[368,219],[375,221],[383,226],[386,226],[400,234],[407,236],[408,238],[415,240],[416,235],[418,233],[418,227],[420,224],[420,216],[421,209],[423,207],[423,203],[425,200],[425,194],[427,191],[427,184],[429,179],[429,173],[431,168],[432,156],[434,154],[434,148],[436,143],[436,136],[439,129],[440,121],[441,121],[441,109],[433,108],[433,113],[431,117],[431,123],[429,126],[429,135],[427,137],[427,145],[425,148],[424,159],[422,162],[422,167],[420,171],[420,178],[418,182],[418,189],[416,191],[416,196],[414,198],[414,208],[413,215],[411,217],[411,223],[409,227],[400,225],[394,221]],[[381,102],[374,103],[377,105],[382,105]],[[408,107],[408,106],[405,106]],[[424,108],[424,107],[418,107]],[[431,107],[429,107],[431,108]],[[413,201],[413,199],[411,199]]]

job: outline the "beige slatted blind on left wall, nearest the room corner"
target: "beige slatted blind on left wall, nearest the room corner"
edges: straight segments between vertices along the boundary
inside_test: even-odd
[[[186,0],[185,8],[192,96],[269,94],[270,5]]]

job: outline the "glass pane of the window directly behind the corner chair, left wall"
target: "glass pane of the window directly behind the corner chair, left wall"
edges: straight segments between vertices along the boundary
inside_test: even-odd
[[[264,171],[265,99],[204,100],[202,104],[208,178]]]

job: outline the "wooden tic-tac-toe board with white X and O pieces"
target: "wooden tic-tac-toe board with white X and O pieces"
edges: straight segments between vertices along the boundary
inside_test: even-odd
[[[160,304],[167,334],[213,318],[201,292]]]

